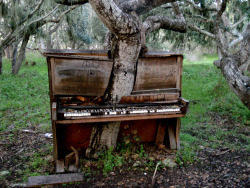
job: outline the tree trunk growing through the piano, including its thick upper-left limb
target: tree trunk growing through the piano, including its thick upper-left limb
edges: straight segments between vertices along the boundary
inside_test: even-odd
[[[90,4],[114,34],[116,41],[112,43],[114,64],[106,91],[107,103],[115,105],[122,96],[130,95],[133,89],[136,62],[141,49],[141,23],[136,15],[123,13],[112,0],[93,0]],[[120,122],[94,125],[86,156],[97,158],[99,152],[115,148],[119,129]]]

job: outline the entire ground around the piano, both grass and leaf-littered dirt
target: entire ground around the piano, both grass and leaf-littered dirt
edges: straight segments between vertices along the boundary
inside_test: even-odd
[[[23,187],[28,177],[55,174],[45,59],[16,77],[5,60],[0,76],[0,187]],[[249,110],[230,92],[214,56],[184,62],[181,150],[120,144],[98,160],[80,160],[85,180],[57,187],[248,187]],[[24,100],[25,99],[25,100]],[[29,131],[27,131],[29,130]]]

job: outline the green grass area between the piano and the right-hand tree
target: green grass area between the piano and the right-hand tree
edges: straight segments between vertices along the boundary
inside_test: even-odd
[[[190,156],[203,146],[250,151],[248,132],[244,132],[249,128],[250,111],[213,66],[216,59],[217,56],[204,55],[196,62],[184,61],[182,93],[190,100],[190,111],[182,118],[179,163],[193,162]]]

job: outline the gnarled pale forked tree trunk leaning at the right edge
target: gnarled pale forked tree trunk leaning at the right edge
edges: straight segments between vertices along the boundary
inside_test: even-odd
[[[243,32],[243,41],[240,51],[234,55],[229,52],[229,45],[225,39],[225,32],[220,28],[223,12],[226,10],[227,0],[223,0],[217,12],[215,33],[216,43],[222,58],[219,63],[214,63],[221,68],[229,87],[239,97],[241,102],[250,109],[250,78],[244,76],[240,67],[249,65],[250,56],[250,23]]]

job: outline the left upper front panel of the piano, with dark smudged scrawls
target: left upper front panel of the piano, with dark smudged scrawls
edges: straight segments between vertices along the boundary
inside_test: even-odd
[[[51,64],[53,94],[102,96],[112,66],[112,61],[54,58]]]

